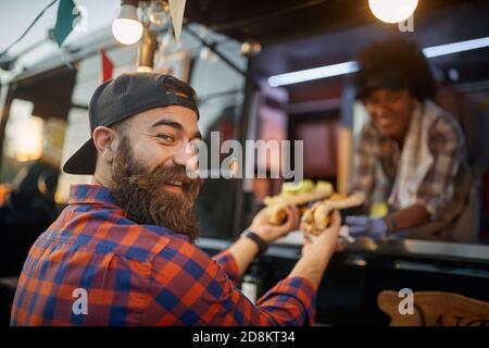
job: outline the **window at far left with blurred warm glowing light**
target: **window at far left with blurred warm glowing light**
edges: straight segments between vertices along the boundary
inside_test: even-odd
[[[26,72],[7,86],[0,182],[10,211],[23,216],[18,223],[37,224],[35,229],[42,229],[58,213],[55,189],[76,73],[64,65]]]

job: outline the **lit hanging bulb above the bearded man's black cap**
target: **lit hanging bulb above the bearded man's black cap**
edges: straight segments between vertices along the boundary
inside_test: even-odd
[[[136,44],[142,36],[142,24],[136,13],[136,3],[123,0],[118,17],[112,23],[112,34],[121,44]]]

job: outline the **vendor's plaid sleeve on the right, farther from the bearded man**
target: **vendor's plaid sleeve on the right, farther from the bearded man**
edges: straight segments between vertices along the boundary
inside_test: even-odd
[[[440,119],[429,133],[429,150],[434,163],[421,183],[416,203],[426,208],[431,220],[439,219],[453,198],[455,176],[459,172],[461,130],[456,125]]]

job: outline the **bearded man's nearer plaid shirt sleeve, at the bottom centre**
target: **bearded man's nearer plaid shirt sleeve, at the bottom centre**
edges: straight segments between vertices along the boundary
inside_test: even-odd
[[[145,325],[303,325],[315,313],[308,279],[284,279],[253,304],[215,260],[183,240],[154,259],[149,295]]]

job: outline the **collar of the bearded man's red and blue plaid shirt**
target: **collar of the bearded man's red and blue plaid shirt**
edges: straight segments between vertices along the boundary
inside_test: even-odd
[[[118,208],[114,196],[101,185],[78,184],[70,187],[70,204],[100,204]]]

